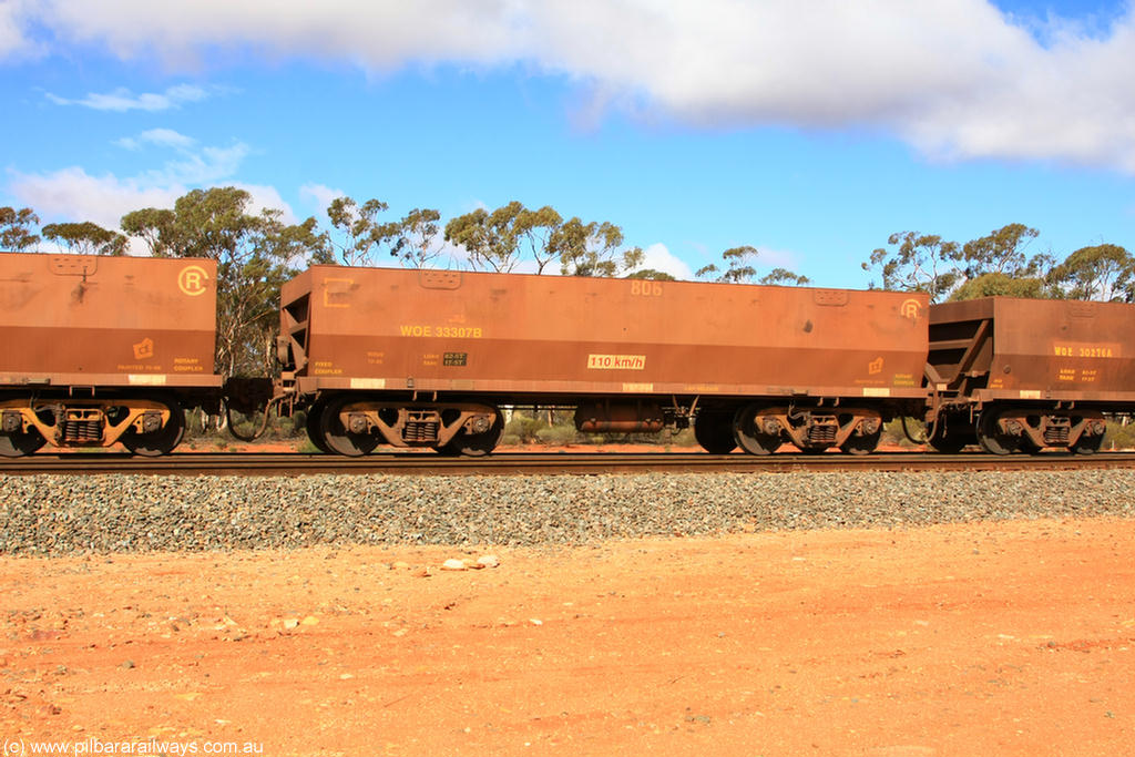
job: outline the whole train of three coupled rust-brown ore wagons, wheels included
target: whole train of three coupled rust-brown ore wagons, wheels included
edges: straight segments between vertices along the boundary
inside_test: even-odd
[[[325,452],[482,455],[502,407],[589,432],[693,427],[712,453],[1099,449],[1135,412],[1135,305],[314,266],[283,287],[279,379],[213,370],[208,260],[0,254],[0,455],[173,451],[184,409],[308,411]]]

